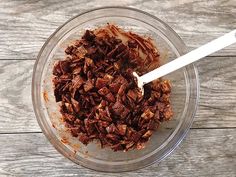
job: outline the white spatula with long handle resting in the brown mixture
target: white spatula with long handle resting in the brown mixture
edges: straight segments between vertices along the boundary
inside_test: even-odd
[[[136,72],[133,73],[138,80],[138,87],[142,90],[144,94],[143,85],[152,82],[155,79],[158,79],[162,76],[165,76],[173,71],[176,71],[186,65],[189,65],[205,56],[208,56],[218,50],[221,50],[233,43],[236,42],[236,30],[233,30],[207,44],[183,55],[179,58],[157,68],[153,71],[146,73],[142,76],[138,76]]]

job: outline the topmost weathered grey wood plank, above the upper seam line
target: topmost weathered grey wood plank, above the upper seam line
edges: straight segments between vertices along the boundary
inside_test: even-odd
[[[135,7],[169,24],[190,47],[236,26],[235,0],[1,0],[0,59],[35,59],[45,40],[71,17],[108,5]],[[235,55],[236,45],[214,55]]]

